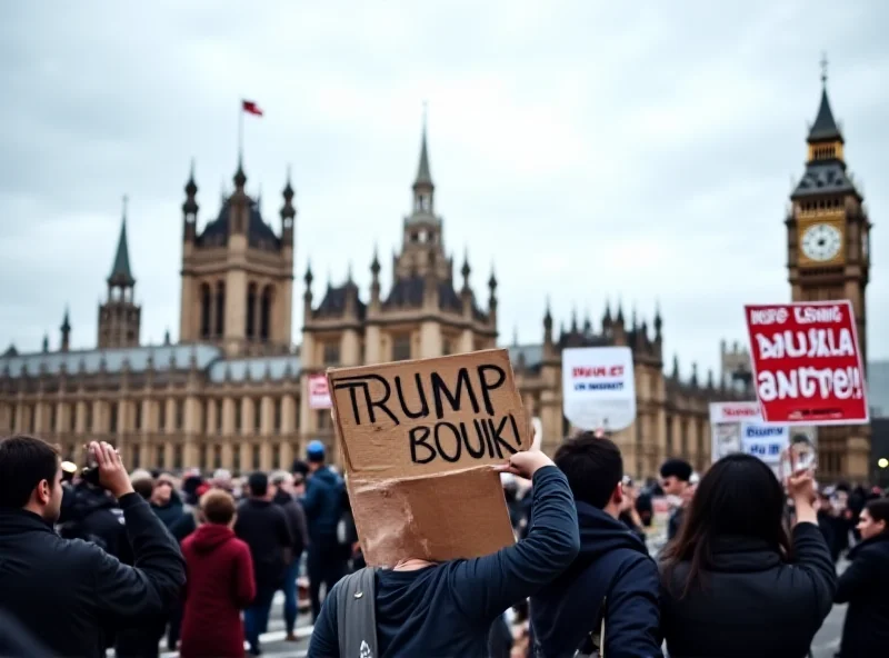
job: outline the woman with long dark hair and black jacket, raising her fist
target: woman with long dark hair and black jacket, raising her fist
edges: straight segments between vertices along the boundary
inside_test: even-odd
[[[837,576],[812,508],[812,473],[787,485],[729,455],[701,478],[661,557],[661,628],[670,658],[802,658],[830,612]]]

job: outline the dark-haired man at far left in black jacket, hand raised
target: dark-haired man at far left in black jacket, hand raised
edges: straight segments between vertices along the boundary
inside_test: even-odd
[[[133,491],[113,446],[93,441],[89,451],[96,481],[123,510],[133,567],[53,531],[62,472],[52,446],[0,440],[0,609],[60,656],[104,656],[107,630],[163,612],[186,582],[178,544]]]

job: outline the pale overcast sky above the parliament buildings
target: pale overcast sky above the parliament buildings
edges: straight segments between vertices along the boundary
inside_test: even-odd
[[[730,7],[733,6],[733,7]],[[861,0],[531,2],[3,2],[0,4],[0,346],[40,348],[70,305],[96,345],[130,197],[142,340],[179,327],[181,203],[197,162],[200,223],[236,169],[280,227],[297,190],[293,327],[372,246],[400,246],[422,102],[446,248],[493,262],[500,333],[542,337],[577,308],[659,301],[668,362],[717,367],[745,302],[789,299],[783,219],[803,171],[819,59],[871,220],[869,351],[889,357],[889,3]],[[881,302],[882,300],[882,302]],[[300,337],[294,333],[294,341]]]

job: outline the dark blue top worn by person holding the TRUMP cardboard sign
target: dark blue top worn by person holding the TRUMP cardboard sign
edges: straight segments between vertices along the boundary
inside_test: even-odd
[[[490,656],[491,625],[503,610],[550,582],[577,556],[577,518],[568,481],[555,466],[547,466],[535,473],[533,483],[533,524],[518,544],[416,571],[377,571],[379,658]],[[309,658],[340,656],[337,588],[341,582],[324,598]]]

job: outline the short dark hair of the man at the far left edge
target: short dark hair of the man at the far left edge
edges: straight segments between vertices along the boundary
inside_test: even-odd
[[[56,486],[59,451],[36,437],[16,435],[0,440],[0,508],[21,509],[42,481]]]

